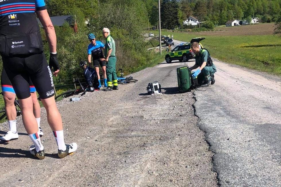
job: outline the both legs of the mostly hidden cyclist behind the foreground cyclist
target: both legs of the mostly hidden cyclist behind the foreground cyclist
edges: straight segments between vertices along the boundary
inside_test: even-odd
[[[41,137],[43,135],[43,131],[40,127],[40,105],[37,100],[37,95],[36,95],[36,89],[29,80],[29,87],[30,87],[30,95],[32,97],[32,103],[33,103],[33,113],[36,118],[37,124],[38,124],[38,134]],[[19,135],[17,133],[17,125],[16,125],[16,117],[17,117],[17,112],[15,109],[14,101],[15,101],[15,91],[13,89],[13,86],[7,76],[7,73],[5,69],[3,68],[2,74],[1,74],[1,87],[2,87],[2,94],[4,98],[4,103],[5,103],[5,110],[6,110],[6,115],[9,123],[9,131],[0,139],[2,141],[10,141],[14,139],[18,139]]]

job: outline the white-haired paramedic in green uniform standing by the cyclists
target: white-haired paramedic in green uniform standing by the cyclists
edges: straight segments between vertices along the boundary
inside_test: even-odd
[[[106,76],[108,87],[104,91],[118,90],[117,75],[116,75],[116,56],[115,56],[115,42],[110,36],[108,28],[102,29],[102,34],[106,39],[104,55],[106,57]]]

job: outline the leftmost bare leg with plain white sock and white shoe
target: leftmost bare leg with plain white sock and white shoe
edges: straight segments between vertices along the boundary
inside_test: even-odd
[[[0,139],[3,141],[18,139],[19,135],[17,133],[17,123],[16,123],[17,112],[15,110],[15,105],[14,105],[15,93],[4,91],[3,98],[5,103],[6,115],[9,123],[9,131],[3,137],[0,137]]]

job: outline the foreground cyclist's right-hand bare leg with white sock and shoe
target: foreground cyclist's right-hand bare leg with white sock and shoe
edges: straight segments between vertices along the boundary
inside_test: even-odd
[[[58,108],[56,107],[54,96],[47,99],[41,99],[41,101],[47,111],[48,123],[53,131],[54,137],[56,138],[56,143],[58,145],[58,156],[59,158],[63,158],[76,151],[77,143],[71,143],[70,145],[65,144],[63,135],[63,122]]]

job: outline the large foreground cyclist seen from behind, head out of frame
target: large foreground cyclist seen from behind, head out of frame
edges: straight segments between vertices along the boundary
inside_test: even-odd
[[[12,9],[11,6],[13,6]],[[39,159],[45,158],[44,147],[33,115],[29,78],[46,108],[48,123],[58,145],[58,157],[63,158],[76,151],[77,143],[65,144],[63,123],[54,100],[51,69],[54,68],[54,76],[57,76],[60,66],[56,53],[56,33],[45,2],[44,0],[0,1],[0,7],[0,55],[3,67],[19,99],[24,127],[34,144],[30,146],[30,153]],[[29,8],[26,9],[26,7]],[[49,66],[44,55],[36,14],[44,27],[49,43]],[[9,23],[11,15],[13,15],[13,20],[17,20],[17,24]]]

